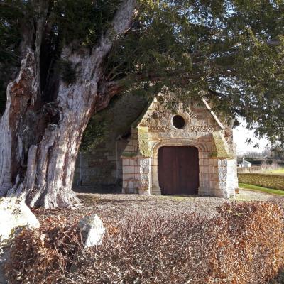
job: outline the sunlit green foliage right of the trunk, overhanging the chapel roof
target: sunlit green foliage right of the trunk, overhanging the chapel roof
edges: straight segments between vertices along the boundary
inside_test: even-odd
[[[283,15],[277,0],[141,0],[108,58],[109,80],[163,92],[170,107],[203,97],[219,115],[243,116],[256,135],[283,143]]]

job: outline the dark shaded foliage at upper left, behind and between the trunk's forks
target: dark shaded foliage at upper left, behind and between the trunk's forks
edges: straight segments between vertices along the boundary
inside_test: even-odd
[[[47,0],[48,1],[48,0]],[[51,54],[59,75],[68,84],[75,82],[77,70],[60,60],[62,46],[72,43],[77,48],[92,48],[110,25],[121,0],[55,0],[50,1],[48,24],[52,27],[48,53]],[[24,23],[33,28],[38,18],[37,6],[31,0],[0,1],[0,114],[6,104],[6,86],[13,80],[21,61],[18,50],[23,40]],[[48,56],[46,54],[45,56]],[[48,66],[45,66],[48,68]]]

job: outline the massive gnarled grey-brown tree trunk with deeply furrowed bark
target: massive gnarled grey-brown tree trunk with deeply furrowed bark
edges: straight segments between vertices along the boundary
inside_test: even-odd
[[[30,206],[69,207],[80,203],[72,178],[82,133],[94,111],[107,107],[114,94],[105,91],[110,83],[104,82],[102,64],[116,38],[128,31],[136,1],[122,2],[92,50],[62,48],[61,59],[80,66],[80,72],[74,82],[58,80],[44,95],[40,72],[48,1],[39,3],[41,16],[33,31],[26,29],[21,70],[7,87],[0,121],[0,196],[24,195]]]

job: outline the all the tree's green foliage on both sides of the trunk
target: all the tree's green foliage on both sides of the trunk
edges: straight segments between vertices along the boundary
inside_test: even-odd
[[[89,49],[111,25],[120,0],[47,1],[40,75],[68,84],[80,67],[62,62],[62,46]],[[0,109],[21,60],[23,29],[40,15],[35,0],[0,1]],[[284,3],[282,0],[140,0],[128,33],[105,59],[104,80],[119,92],[153,97],[169,107],[208,99],[228,119],[242,116],[256,134],[284,143]],[[168,99],[168,94],[175,97]],[[1,111],[0,110],[0,111]]]

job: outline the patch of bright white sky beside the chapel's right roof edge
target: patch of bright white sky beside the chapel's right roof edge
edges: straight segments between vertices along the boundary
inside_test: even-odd
[[[246,129],[245,121],[242,121],[241,124],[236,127],[234,130],[234,142],[236,143],[236,154],[241,155],[243,153],[249,151],[262,152],[266,145],[268,144],[268,140],[266,138],[259,139],[254,137],[253,131]],[[251,138],[253,143],[246,143],[246,139]],[[259,148],[253,148],[255,143],[259,143]]]

